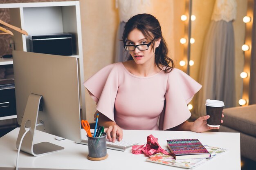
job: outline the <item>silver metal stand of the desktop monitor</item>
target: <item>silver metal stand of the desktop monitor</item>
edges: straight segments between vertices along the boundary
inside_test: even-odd
[[[42,142],[38,144],[33,144],[36,123],[38,117],[38,108],[41,100],[41,95],[30,94],[27,99],[27,105],[25,108],[25,112],[23,115],[23,119],[20,126],[20,132],[18,135],[18,139],[16,142],[16,147],[18,148],[20,145],[20,140],[23,134],[26,132],[25,126],[29,125],[29,132],[25,135],[22,141],[22,145],[20,150],[27,152],[34,156],[45,155],[52,152],[57,152],[59,150],[63,150],[64,148],[49,142]]]

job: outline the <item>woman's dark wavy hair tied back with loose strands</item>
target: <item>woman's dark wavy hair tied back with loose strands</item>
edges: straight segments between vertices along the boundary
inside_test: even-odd
[[[124,45],[126,44],[129,33],[134,29],[141,31],[141,33],[143,33],[143,35],[149,40],[157,40],[161,38],[159,47],[155,49],[155,64],[165,73],[171,72],[174,68],[174,63],[173,60],[167,56],[168,48],[162,36],[159,21],[153,15],[147,13],[138,14],[130,18],[124,26],[122,38]],[[152,44],[154,46],[155,41],[153,41]],[[128,60],[133,60],[131,55],[128,56]],[[164,68],[160,65],[166,67]]]

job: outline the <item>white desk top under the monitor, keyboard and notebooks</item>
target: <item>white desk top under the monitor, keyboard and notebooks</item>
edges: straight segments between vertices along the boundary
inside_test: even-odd
[[[0,138],[0,168],[12,170],[16,166],[16,139],[19,128],[14,129]],[[224,153],[207,163],[195,168],[196,170],[240,170],[240,134],[225,132],[185,132],[185,131],[151,131],[151,130],[124,130],[124,140],[137,141],[140,145],[146,143],[146,137],[152,134],[158,138],[159,144],[166,146],[166,139],[199,139],[202,144],[228,149]],[[82,136],[85,131],[82,130]],[[75,170],[182,170],[173,166],[166,166],[146,161],[143,154],[133,155],[131,149],[125,152],[108,149],[108,159],[102,161],[90,161],[87,159],[88,146],[76,144],[70,140],[57,141],[55,136],[36,131],[35,143],[49,141],[65,147],[64,150],[33,157],[20,152],[19,170],[24,169],[75,169]],[[42,170],[42,169],[41,169]],[[184,169],[185,170],[185,169]]]

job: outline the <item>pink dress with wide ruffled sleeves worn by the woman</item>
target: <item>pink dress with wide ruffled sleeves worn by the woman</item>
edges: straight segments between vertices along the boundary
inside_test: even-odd
[[[137,130],[166,130],[182,124],[191,116],[187,104],[202,87],[177,68],[139,77],[121,62],[102,68],[84,86],[99,112],[123,129]]]

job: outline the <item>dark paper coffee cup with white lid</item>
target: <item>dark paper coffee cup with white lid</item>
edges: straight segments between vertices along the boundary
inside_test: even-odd
[[[207,126],[210,127],[220,127],[220,121],[222,117],[222,110],[224,107],[224,102],[220,100],[206,100],[206,114],[210,115],[207,119]]]

